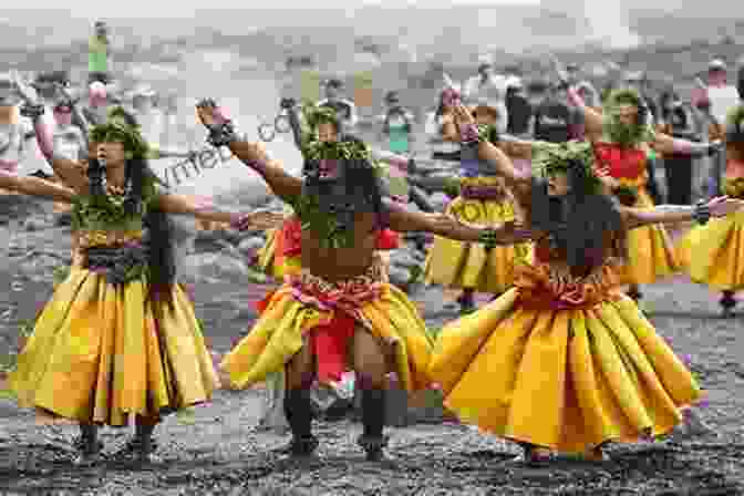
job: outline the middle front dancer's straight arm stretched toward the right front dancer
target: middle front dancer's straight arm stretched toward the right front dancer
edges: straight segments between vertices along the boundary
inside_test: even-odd
[[[516,245],[530,239],[531,232],[514,223],[497,227],[476,227],[463,224],[446,214],[423,214],[386,200],[390,228],[399,232],[432,232],[458,241],[483,242],[486,246]]]

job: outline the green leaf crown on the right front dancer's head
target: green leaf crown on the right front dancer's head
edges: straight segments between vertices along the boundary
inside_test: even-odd
[[[552,172],[566,173],[569,167],[575,167],[576,162],[583,167],[586,177],[586,190],[597,193],[602,183],[595,174],[595,151],[589,142],[570,141],[567,143],[535,142],[533,156],[534,170],[546,177]]]

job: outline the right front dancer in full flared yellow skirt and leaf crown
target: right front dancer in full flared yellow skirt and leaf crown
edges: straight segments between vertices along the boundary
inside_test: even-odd
[[[535,262],[518,268],[515,288],[438,334],[430,374],[445,406],[520,443],[529,463],[552,452],[604,459],[608,442],[671,431],[702,392],[620,291],[624,235],[654,223],[702,223],[744,202],[623,207],[595,173],[590,144],[545,146],[535,163],[544,177],[533,177],[465,125],[465,108],[458,118],[464,148],[477,147],[525,209]]]

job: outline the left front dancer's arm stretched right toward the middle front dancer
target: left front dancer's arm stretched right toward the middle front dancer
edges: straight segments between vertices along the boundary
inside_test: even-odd
[[[168,214],[190,215],[200,220],[227,223],[236,229],[266,230],[280,227],[285,220],[281,214],[271,211],[251,211],[237,214],[225,211],[215,206],[210,199],[188,197],[184,195],[161,195],[158,206]]]

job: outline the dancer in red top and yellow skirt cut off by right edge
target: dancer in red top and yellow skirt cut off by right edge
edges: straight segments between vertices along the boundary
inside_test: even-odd
[[[744,105],[733,108],[726,121],[723,192],[744,198]],[[736,304],[735,292],[744,289],[744,215],[693,228],[680,240],[678,254],[693,281],[723,293],[719,302],[728,317]]]

